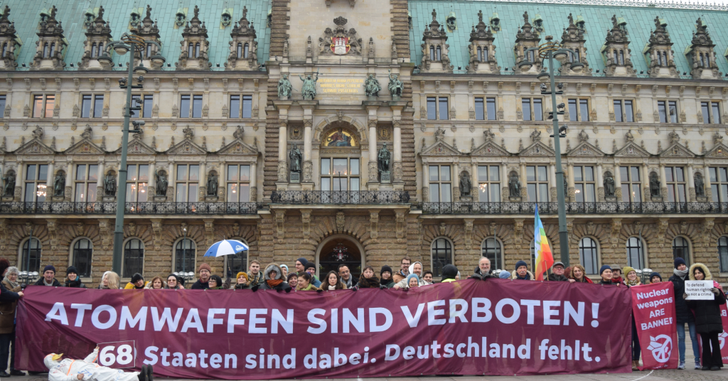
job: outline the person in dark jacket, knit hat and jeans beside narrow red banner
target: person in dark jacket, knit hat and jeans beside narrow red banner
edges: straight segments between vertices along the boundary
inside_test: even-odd
[[[685,280],[688,278],[688,268],[685,264],[685,260],[679,256],[675,259],[673,275],[668,279],[669,282],[673,283],[673,289],[675,290],[675,317],[678,330],[678,353],[680,355],[680,362],[678,363],[678,369],[685,369],[685,323],[690,334],[690,341],[692,342],[692,354],[695,356],[695,369],[700,369],[700,344],[697,341],[697,332],[695,331],[695,316],[692,315],[685,299],[679,297],[685,294]]]

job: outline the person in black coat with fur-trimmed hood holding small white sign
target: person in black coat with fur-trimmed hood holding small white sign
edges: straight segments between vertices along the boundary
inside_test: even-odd
[[[711,270],[702,263],[690,266],[690,280],[713,280]],[[723,367],[721,344],[718,335],[723,331],[721,305],[726,304],[726,294],[720,283],[713,280],[713,300],[686,300],[687,306],[695,313],[695,331],[703,341],[703,370],[720,370]],[[683,299],[687,294],[683,294]]]

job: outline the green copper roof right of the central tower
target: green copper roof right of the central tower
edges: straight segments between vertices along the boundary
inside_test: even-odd
[[[585,20],[586,33],[584,35],[587,48],[587,60],[593,75],[604,75],[604,61],[601,58],[602,45],[604,45],[606,32],[612,28],[612,15],[623,17],[627,22],[630,36],[630,50],[632,50],[632,63],[637,73],[647,73],[647,63],[642,51],[646,47],[650,32],[654,30],[654,17],[660,16],[668,24],[667,29],[673,42],[675,63],[680,74],[690,74],[690,66],[685,50],[692,40],[695,31],[695,20],[701,17],[703,23],[708,25],[708,33],[716,44],[716,63],[719,70],[728,73],[728,61],[724,52],[728,47],[728,12],[708,9],[670,9],[660,7],[611,7],[604,5],[582,4],[545,4],[527,2],[504,1],[419,1],[410,0],[409,10],[412,16],[412,29],[410,31],[410,48],[412,59],[416,64],[422,60],[422,31],[425,25],[432,21],[432,9],[438,12],[437,20],[444,24],[446,17],[455,12],[457,28],[449,31],[448,44],[450,45],[450,59],[457,73],[458,66],[464,73],[468,63],[467,45],[470,44],[470,31],[472,25],[478,24],[478,11],[483,11],[483,22],[488,20],[494,12],[498,14],[501,30],[494,34],[496,38],[496,58],[504,74],[511,73],[515,65],[513,46],[515,34],[523,25],[523,12],[529,12],[529,22],[533,23],[536,15],[543,19],[543,37],[554,36],[561,41],[563,28],[569,25],[567,16],[571,13],[574,20],[581,16]],[[557,66],[558,67],[558,66]],[[506,71],[506,68],[508,69]],[[597,69],[599,73],[596,74]]]

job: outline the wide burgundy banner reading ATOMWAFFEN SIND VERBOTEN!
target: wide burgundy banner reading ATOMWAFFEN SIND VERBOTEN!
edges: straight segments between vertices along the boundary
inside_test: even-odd
[[[496,279],[290,294],[32,286],[16,367],[124,342],[104,364],[135,356],[178,378],[630,372],[630,302],[626,287]]]

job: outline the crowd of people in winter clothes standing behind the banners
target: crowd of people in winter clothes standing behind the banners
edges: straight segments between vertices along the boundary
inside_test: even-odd
[[[412,262],[408,256],[400,261],[399,268],[395,271],[392,267],[384,265],[379,270],[379,277],[376,270],[366,266],[361,270],[359,278],[352,275],[346,264],[339,265],[337,271],[331,270],[321,278],[316,275],[317,266],[306,258],[296,259],[294,270],[290,270],[287,264],[271,263],[261,268],[257,260],[250,261],[248,272],[238,272],[234,283],[231,278],[223,280],[215,275],[209,264],[203,263],[197,269],[197,281],[189,285],[193,290],[276,290],[276,291],[334,291],[352,290],[360,288],[395,288],[407,290],[427,286],[434,283],[431,271],[424,270],[421,262]],[[461,274],[453,264],[446,264],[441,270],[441,283],[454,282],[461,279]],[[15,348],[15,307],[17,300],[23,297],[23,286],[17,283],[20,274],[17,267],[10,266],[7,259],[0,259],[0,274],[4,279],[0,283],[0,377],[10,375],[25,375],[25,373],[13,367],[15,354],[9,350],[12,345]],[[624,278],[622,278],[622,275]],[[545,281],[563,281],[569,283],[599,283],[603,285],[634,287],[641,286],[641,279],[632,267],[609,266],[601,267],[598,280],[592,280],[581,264],[574,264],[565,267],[562,262],[555,262],[550,268]],[[510,280],[536,280],[534,273],[529,270],[528,264],[518,261],[513,272],[506,270],[495,270],[491,268],[488,258],[482,257],[478,267],[470,275],[470,279],[488,280],[488,278],[501,278]],[[652,272],[649,275],[647,284],[662,282],[662,275]],[[726,294],[719,283],[713,281],[711,291],[715,294],[713,300],[686,300],[685,280],[712,280],[711,272],[705,264],[692,264],[689,268],[684,259],[677,258],[674,262],[673,275],[669,282],[673,283],[675,290],[675,310],[678,333],[678,369],[685,369],[685,325],[688,326],[690,339],[692,339],[692,350],[695,355],[695,369],[719,370],[723,366],[720,353],[719,334],[723,331],[721,323],[720,305],[726,303]],[[173,289],[183,290],[188,288],[185,285],[185,278],[176,273],[170,274],[167,278],[155,276],[147,281],[143,275],[135,273],[130,282],[120,284],[119,275],[116,272],[104,272],[98,288],[101,289]],[[52,265],[43,269],[43,276],[36,283],[36,286],[65,286],[71,288],[87,288],[79,277],[76,267],[66,269],[66,278],[63,283],[56,279],[56,270]],[[700,334],[703,345],[703,356],[700,356],[697,334]],[[13,350],[14,351],[14,350]],[[632,319],[632,366],[633,370],[638,369],[640,358],[640,346],[637,328]],[[8,359],[9,373],[7,371]]]

